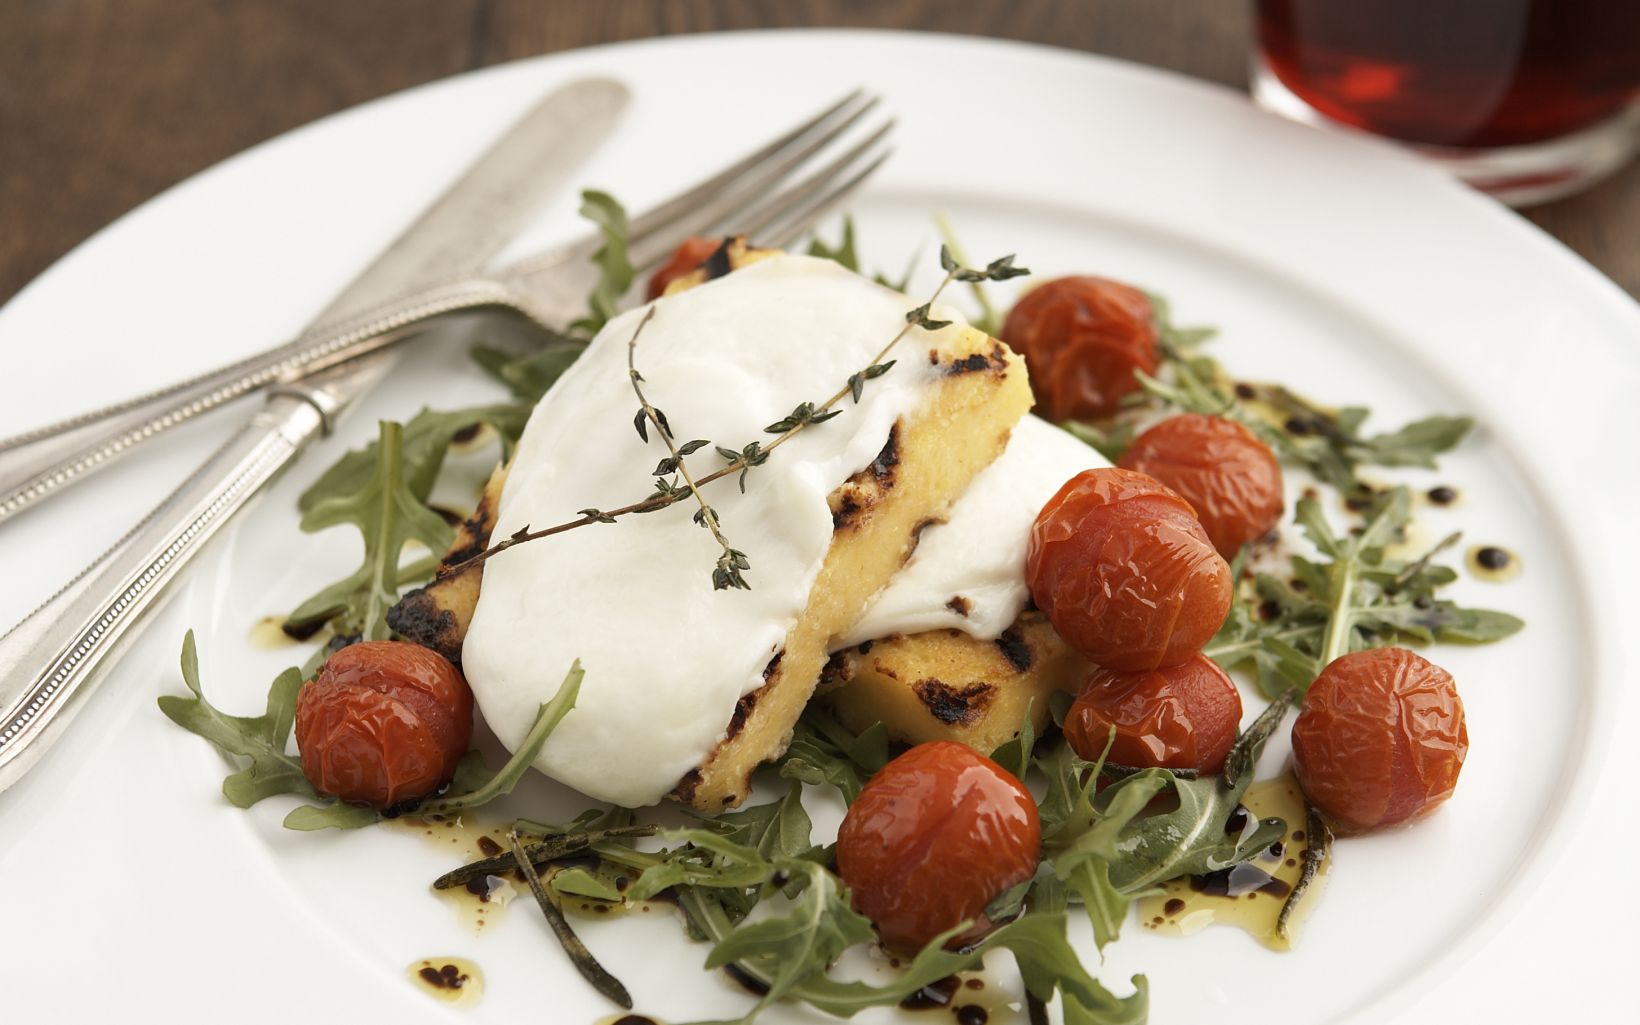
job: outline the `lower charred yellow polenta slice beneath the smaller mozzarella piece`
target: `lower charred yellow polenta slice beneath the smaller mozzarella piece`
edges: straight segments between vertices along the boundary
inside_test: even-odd
[[[1079,690],[1089,669],[1032,608],[994,641],[930,630],[845,648],[820,686],[838,722],[856,733],[881,722],[900,743],[954,740],[991,754],[1018,735],[1027,712],[1040,733],[1048,699]]]

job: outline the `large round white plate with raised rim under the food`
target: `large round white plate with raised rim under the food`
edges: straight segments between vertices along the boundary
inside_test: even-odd
[[[928,215],[946,210],[976,256],[1017,251],[1045,274],[1102,272],[1168,294],[1181,321],[1223,328],[1215,353],[1250,377],[1364,402],[1386,426],[1478,415],[1483,430],[1438,477],[1466,502],[1428,522],[1522,553],[1519,582],[1453,590],[1528,628],[1437,656],[1469,710],[1456,799],[1414,830],[1340,845],[1299,951],[1273,954],[1230,930],[1168,940],[1130,925],[1105,974],[1122,986],[1148,973],[1156,1025],[1209,1014],[1522,1020],[1560,1012],[1571,987],[1586,1007],[1619,992],[1637,892],[1633,872],[1610,864],[1622,854],[1606,851],[1640,836],[1617,774],[1599,769],[1614,764],[1609,738],[1635,725],[1632,702],[1620,705],[1640,682],[1619,641],[1640,613],[1622,587],[1640,500],[1640,310],[1489,200],[1240,95],[1071,52],[871,33],[686,38],[464,75],[259,146],[52,267],[0,312],[0,435],[287,336],[526,102],[587,72],[626,79],[636,102],[581,179],[635,208],[864,84],[900,116],[897,157],[856,203],[868,262],[897,269],[933,238]],[[569,231],[572,207],[566,197],[531,241]],[[441,954],[482,964],[482,1020],[579,1023],[610,1010],[530,909],[476,936],[430,897],[448,854],[385,830],[285,833],[282,800],[228,807],[221,759],[154,707],[179,690],[175,654],[194,626],[207,690],[259,710],[272,672],[298,656],[253,648],[249,625],[354,554],[346,531],[300,538],[294,495],[377,417],[494,394],[464,366],[454,348],[423,348],[369,397],[344,436],[305,458],[192,574],[52,756],[0,795],[7,1012],[446,1020],[461,1012],[403,977]],[[225,421],[0,531],[0,622],[174,485]],[[1271,751],[1266,774],[1279,758]],[[1591,895],[1586,879],[1614,869],[1615,891]],[[584,933],[640,1012],[681,1020],[745,1004],[699,971],[704,948],[669,920]],[[768,1020],[810,1017],[777,1009]]]

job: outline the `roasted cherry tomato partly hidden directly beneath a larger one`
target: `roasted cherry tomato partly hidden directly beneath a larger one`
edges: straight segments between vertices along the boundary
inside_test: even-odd
[[[1143,672],[1096,667],[1064,718],[1064,736],[1087,761],[1109,743],[1109,759],[1118,766],[1214,774],[1240,725],[1241,694],[1223,669],[1197,653],[1187,663]]]

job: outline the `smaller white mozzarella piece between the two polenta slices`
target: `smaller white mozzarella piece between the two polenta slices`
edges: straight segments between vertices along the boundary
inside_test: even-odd
[[[917,551],[833,649],[895,633],[956,628],[995,640],[1030,592],[1025,546],[1036,513],[1059,487],[1110,462],[1063,430],[1025,417],[995,462],[974,477],[945,523]]]

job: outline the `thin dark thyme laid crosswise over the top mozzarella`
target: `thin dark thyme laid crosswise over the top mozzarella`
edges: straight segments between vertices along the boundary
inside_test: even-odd
[[[940,295],[946,290],[948,285],[951,285],[951,282],[969,282],[969,284],[973,284],[973,282],[986,282],[986,280],[1007,280],[1010,277],[1020,277],[1023,274],[1030,274],[1030,271],[1027,267],[1018,267],[1018,266],[1014,264],[1014,256],[1012,254],[1004,256],[1000,259],[994,259],[989,264],[986,264],[984,267],[966,267],[966,266],[959,264],[954,256],[951,256],[951,251],[946,246],[940,246],[940,267],[945,269],[945,277],[940,279],[940,284],[928,295],[928,300],[923,302],[920,307],[917,307],[917,308],[913,308],[913,310],[910,310],[910,312],[905,313],[905,323],[904,323],[904,326],[900,326],[900,330],[894,333],[894,338],[891,338],[887,341],[887,344],[884,344],[876,353],[876,356],[871,358],[871,362],[868,362],[864,367],[861,367],[859,371],[856,371],[854,374],[851,374],[848,377],[848,380],[843,384],[843,387],[840,387],[836,392],[833,392],[827,400],[823,400],[820,403],[802,402],[786,418],[777,420],[776,423],[771,423],[768,428],[764,428],[766,433],[777,435],[768,444],[763,444],[761,441],[753,441],[753,443],[743,446],[740,451],[736,451],[733,448],[727,448],[727,446],[717,446],[718,456],[722,456],[727,461],[725,466],[720,466],[718,469],[715,469],[715,471],[712,471],[712,472],[708,472],[708,474],[705,474],[705,476],[702,476],[699,479],[687,479],[686,485],[672,485],[667,481],[661,479],[659,485],[654,490],[654,494],[645,497],[640,502],[633,502],[630,505],[622,505],[620,508],[584,508],[584,510],[581,510],[581,515],[576,517],[574,520],[566,520],[564,523],[554,523],[553,526],[544,526],[541,530],[531,530],[530,525],[525,525],[523,528],[520,528],[518,531],[515,531],[510,538],[505,538],[502,541],[497,541],[495,544],[490,544],[489,548],[485,548],[484,551],[474,554],[472,558],[443,567],[440,571],[440,574],[441,576],[453,576],[453,574],[462,572],[462,571],[466,571],[466,569],[469,569],[472,566],[479,566],[482,563],[487,563],[489,559],[494,559],[500,553],[503,553],[503,551],[507,551],[510,548],[517,548],[518,544],[526,544],[530,541],[540,541],[543,538],[551,538],[554,535],[561,535],[561,533],[566,533],[566,531],[571,531],[571,530],[579,530],[582,526],[590,526],[592,523],[613,523],[613,522],[620,520],[622,517],[630,517],[633,513],[658,512],[658,510],[666,508],[669,505],[676,505],[677,502],[681,502],[681,500],[684,500],[687,497],[697,497],[699,499],[700,490],[705,485],[713,484],[717,481],[722,481],[723,477],[731,477],[731,476],[740,474],[741,490],[745,490],[748,471],[751,471],[756,466],[763,466],[769,459],[769,456],[774,453],[774,449],[781,448],[782,444],[786,444],[787,441],[790,441],[792,438],[795,438],[799,433],[802,433],[809,426],[813,426],[817,423],[825,423],[827,420],[830,420],[830,418],[836,417],[838,413],[841,413],[841,410],[838,410],[836,407],[845,399],[853,399],[858,403],[859,397],[861,397],[861,394],[864,390],[864,384],[868,380],[874,380],[877,377],[882,377],[884,374],[889,372],[889,369],[894,367],[894,361],[889,359],[889,353],[892,353],[894,348],[897,344],[900,344],[900,341],[912,331],[912,328],[923,328],[927,331],[936,331],[936,330],[940,330],[940,328],[943,328],[943,326],[946,326],[946,325],[951,323],[951,321],[936,320],[936,318],[932,317],[933,303],[940,300]],[[648,315],[645,317],[645,320],[648,320]],[[641,330],[641,326],[643,325],[640,323],[640,330]],[[635,335],[635,338],[636,338],[636,335]],[[635,372],[635,369],[631,367],[630,362],[628,362],[628,369],[631,372]],[[635,387],[640,382],[641,382],[641,377],[635,379],[633,380]],[[641,399],[641,395],[640,395],[640,399]],[[648,407],[648,403],[645,403],[645,407],[646,408],[653,408],[653,407]],[[664,413],[661,413],[659,410],[654,410],[654,412],[656,412],[656,417],[651,420],[649,415],[646,413],[646,410],[640,410],[638,417],[635,418],[633,423],[635,425],[653,423],[654,428],[656,428],[656,431],[661,433],[663,438],[666,438],[667,441],[671,441],[671,425],[666,421]],[[648,440],[646,430],[648,430],[646,426],[638,426],[638,433],[645,440]],[[694,444],[694,443],[690,443],[690,444]],[[707,444],[707,443],[702,441],[702,446],[704,444]],[[687,453],[682,453],[681,449],[682,449],[682,446],[679,446],[677,451],[672,451],[671,459],[676,459],[676,466],[672,466],[672,469],[676,469],[679,474],[684,474],[684,458],[686,458]],[[690,453],[694,449],[690,449]],[[671,466],[671,464],[663,462],[663,466]],[[667,472],[672,472],[672,471],[669,469]],[[704,499],[699,499],[699,500],[700,500],[700,503],[702,503],[704,508],[710,508],[710,507],[707,507],[707,503],[705,503]],[[715,513],[705,513],[705,512],[702,512],[700,517],[708,525],[715,520]],[[718,535],[717,530],[713,530],[713,535],[723,544],[723,556],[720,556],[718,564],[717,564],[717,567],[713,569],[713,574],[712,574],[713,587],[718,587],[722,590],[723,587],[740,587],[740,585],[745,585],[745,581],[741,581],[741,584],[735,584],[735,579],[740,576],[740,571],[746,569],[748,564],[749,564],[746,554],[741,553],[741,551],[736,551],[735,548],[731,548],[728,544],[728,541],[725,541],[722,538],[722,535]],[[722,581],[722,584],[720,584],[720,581]]]

